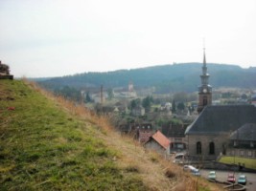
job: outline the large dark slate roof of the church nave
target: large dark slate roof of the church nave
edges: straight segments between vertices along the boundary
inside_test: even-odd
[[[245,123],[256,123],[255,106],[212,105],[204,108],[198,118],[188,126],[185,135],[231,133]]]

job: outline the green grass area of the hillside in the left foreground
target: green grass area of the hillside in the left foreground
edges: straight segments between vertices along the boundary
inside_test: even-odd
[[[19,80],[0,80],[0,190],[147,190],[92,124]]]

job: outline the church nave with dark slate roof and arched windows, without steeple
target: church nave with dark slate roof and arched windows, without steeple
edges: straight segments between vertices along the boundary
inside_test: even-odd
[[[207,106],[185,132],[188,154],[216,159],[225,153],[230,134],[246,123],[256,123],[253,105]]]

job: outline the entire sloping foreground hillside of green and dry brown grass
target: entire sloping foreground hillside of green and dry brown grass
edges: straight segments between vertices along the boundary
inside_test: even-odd
[[[0,190],[220,190],[196,181],[104,117],[35,84],[0,80]]]

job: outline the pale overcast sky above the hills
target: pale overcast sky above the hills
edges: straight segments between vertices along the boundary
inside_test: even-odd
[[[16,77],[182,62],[256,66],[256,0],[0,0]]]

